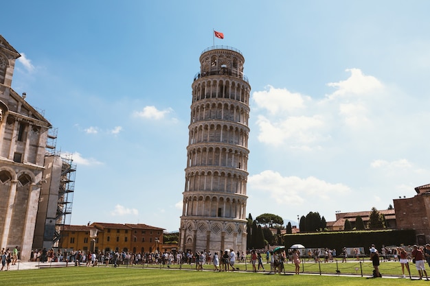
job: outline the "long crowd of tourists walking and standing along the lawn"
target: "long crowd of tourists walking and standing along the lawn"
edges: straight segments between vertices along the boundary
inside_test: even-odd
[[[381,250],[377,250],[374,245],[370,248],[370,260],[374,267],[374,277],[381,277],[379,272],[379,265],[381,262],[385,261],[398,261],[401,265],[403,278],[406,278],[406,274],[411,276],[410,266],[411,263],[415,265],[416,270],[418,270],[419,278],[426,278],[427,271],[425,270],[425,262],[428,263],[430,267],[430,244],[425,246],[383,246]],[[155,264],[155,265],[169,265],[173,264],[195,264],[195,269],[198,271],[211,269],[213,265],[213,270],[222,271],[235,271],[238,267],[235,263],[251,263],[253,272],[263,271],[266,272],[264,268],[264,257],[266,263],[270,263],[270,272],[281,273],[284,272],[284,263],[295,264],[295,274],[299,274],[300,264],[307,261],[315,261],[315,263],[330,263],[335,261],[337,257],[335,249],[329,248],[315,248],[315,249],[288,249],[280,247],[275,250],[251,250],[248,252],[249,261],[247,259],[247,254],[244,252],[234,252],[233,249],[230,250],[220,250],[220,252],[214,252],[212,254],[210,251],[202,250],[192,253],[188,252],[171,252],[164,250],[164,252],[145,252],[145,253],[133,253],[127,251],[110,251],[110,252],[98,252],[91,253],[84,250],[54,250],[45,249],[33,250],[31,253],[31,261],[38,261],[41,263],[50,262],[67,262],[74,263],[76,266],[96,266],[99,263],[109,267],[118,267],[120,265],[143,265],[143,264]],[[348,256],[349,255],[349,256]],[[354,257],[354,260],[359,260],[360,248],[343,248],[339,253],[339,258],[342,262],[347,262],[347,258]],[[16,265],[16,261],[19,257],[19,248],[16,246],[13,250],[10,248],[1,250],[1,271],[10,270],[11,265]],[[363,255],[362,255],[362,258]],[[350,259],[351,261],[351,259]]]

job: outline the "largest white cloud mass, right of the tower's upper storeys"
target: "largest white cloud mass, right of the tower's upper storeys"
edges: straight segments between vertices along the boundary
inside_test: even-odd
[[[347,71],[350,77],[329,83],[337,90],[322,99],[273,86],[254,92],[258,140],[275,147],[321,150],[321,145],[332,142],[342,132],[346,138],[366,138],[376,132],[375,122],[389,116],[378,108],[386,104],[385,87],[360,69]]]

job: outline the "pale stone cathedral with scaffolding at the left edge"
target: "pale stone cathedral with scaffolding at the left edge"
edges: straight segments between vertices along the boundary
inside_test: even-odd
[[[18,246],[28,261],[32,248],[52,248],[71,213],[70,164],[54,163],[52,125],[12,88],[21,55],[0,35],[0,248]],[[67,211],[66,211],[67,210]],[[36,234],[35,234],[36,233]],[[35,239],[35,241],[34,241]]]

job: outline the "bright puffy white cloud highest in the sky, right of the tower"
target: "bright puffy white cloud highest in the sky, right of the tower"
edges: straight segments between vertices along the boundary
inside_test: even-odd
[[[382,88],[383,84],[371,75],[364,75],[360,69],[346,69],[351,72],[348,80],[340,82],[330,82],[327,85],[337,88],[337,91],[328,95],[330,99],[344,95],[367,95],[378,88]]]

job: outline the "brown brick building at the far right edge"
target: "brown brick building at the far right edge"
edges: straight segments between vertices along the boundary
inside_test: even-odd
[[[415,188],[416,195],[412,198],[393,200],[396,210],[397,228],[414,229],[416,241],[420,245],[430,242],[430,184]]]

